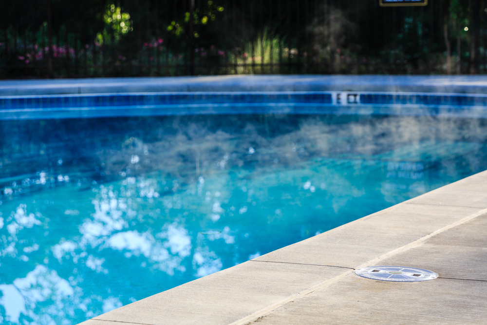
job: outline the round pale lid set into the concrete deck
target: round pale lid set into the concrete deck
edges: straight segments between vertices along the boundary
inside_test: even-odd
[[[394,282],[428,281],[438,277],[438,274],[422,268],[393,266],[359,268],[355,274],[367,279]]]

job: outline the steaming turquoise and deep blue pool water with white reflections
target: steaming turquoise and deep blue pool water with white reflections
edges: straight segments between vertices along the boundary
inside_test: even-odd
[[[484,119],[0,121],[0,323],[76,324],[487,169]]]

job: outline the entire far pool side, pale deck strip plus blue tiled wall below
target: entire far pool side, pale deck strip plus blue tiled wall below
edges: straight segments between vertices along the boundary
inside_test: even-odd
[[[483,76],[214,76],[0,81],[0,119],[198,114],[487,117]]]

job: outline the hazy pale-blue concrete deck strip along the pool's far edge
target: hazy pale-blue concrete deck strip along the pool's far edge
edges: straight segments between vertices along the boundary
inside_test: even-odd
[[[487,76],[195,76],[1,80],[0,96],[150,92],[487,93]]]

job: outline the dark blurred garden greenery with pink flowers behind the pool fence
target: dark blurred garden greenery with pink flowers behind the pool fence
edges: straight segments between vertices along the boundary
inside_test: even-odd
[[[486,0],[3,1],[0,78],[484,74]]]

